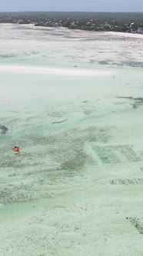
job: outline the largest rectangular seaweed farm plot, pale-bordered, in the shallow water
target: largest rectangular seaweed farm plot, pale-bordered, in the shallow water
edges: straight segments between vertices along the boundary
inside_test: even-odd
[[[92,145],[91,150],[94,151],[98,158],[98,163],[124,163],[126,161],[135,162],[141,160],[138,153],[133,150],[131,145]]]

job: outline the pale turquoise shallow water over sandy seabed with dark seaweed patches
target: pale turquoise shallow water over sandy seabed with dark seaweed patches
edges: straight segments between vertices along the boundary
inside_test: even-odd
[[[1,26],[0,255],[141,255],[141,67],[121,66],[118,35],[111,53],[101,34],[24,28]],[[135,40],[126,44],[142,44]],[[98,63],[101,49],[112,64]]]

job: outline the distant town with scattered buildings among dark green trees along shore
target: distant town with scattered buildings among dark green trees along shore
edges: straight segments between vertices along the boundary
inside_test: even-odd
[[[143,13],[1,12],[0,23],[143,34]]]

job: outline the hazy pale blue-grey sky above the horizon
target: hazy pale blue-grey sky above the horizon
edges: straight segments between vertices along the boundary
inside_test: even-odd
[[[5,0],[0,12],[143,12],[143,0]]]

